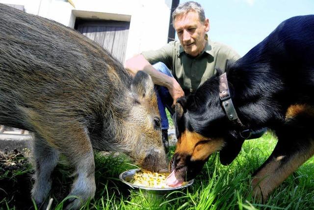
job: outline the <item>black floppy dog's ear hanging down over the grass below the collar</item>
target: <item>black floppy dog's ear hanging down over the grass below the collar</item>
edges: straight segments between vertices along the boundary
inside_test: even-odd
[[[220,163],[224,166],[229,165],[239,154],[244,142],[243,138],[227,137],[225,146],[219,152]]]

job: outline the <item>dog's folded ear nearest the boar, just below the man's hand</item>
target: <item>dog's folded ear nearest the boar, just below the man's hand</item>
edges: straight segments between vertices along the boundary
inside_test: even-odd
[[[185,97],[178,98],[176,102],[176,112],[173,116],[173,122],[175,124],[177,139],[179,139],[181,133],[185,129],[185,121],[183,118],[183,114],[186,112],[185,106],[186,98]]]

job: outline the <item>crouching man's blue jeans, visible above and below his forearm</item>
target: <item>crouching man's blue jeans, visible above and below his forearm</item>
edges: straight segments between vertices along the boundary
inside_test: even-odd
[[[157,62],[153,65],[153,67],[170,77],[173,77],[168,67],[162,63]],[[158,110],[161,117],[161,129],[168,129],[169,122],[166,114],[166,108],[168,109],[171,116],[174,114],[174,110],[171,108],[173,103],[173,98],[171,97],[169,90],[166,87],[155,85],[155,90],[157,94],[157,103],[158,103]]]

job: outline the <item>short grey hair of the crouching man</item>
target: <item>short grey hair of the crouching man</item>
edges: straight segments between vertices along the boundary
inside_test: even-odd
[[[195,11],[198,13],[201,22],[206,20],[205,12],[201,4],[195,1],[187,1],[185,3],[179,4],[177,8],[172,13],[172,25],[174,26],[175,19],[178,15],[184,15],[190,11]]]

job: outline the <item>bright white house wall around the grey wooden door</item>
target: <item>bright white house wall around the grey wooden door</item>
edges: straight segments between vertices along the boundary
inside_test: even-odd
[[[72,2],[72,4],[70,3]],[[0,0],[74,28],[76,17],[130,21],[126,59],[167,43],[172,0]]]

